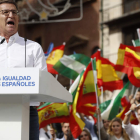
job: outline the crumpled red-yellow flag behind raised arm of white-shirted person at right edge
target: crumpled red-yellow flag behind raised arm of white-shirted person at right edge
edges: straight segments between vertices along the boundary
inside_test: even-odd
[[[131,107],[131,104],[126,96],[124,96],[121,99],[121,105],[122,105],[123,109],[116,117],[121,118],[123,120],[125,117],[125,113],[127,113]],[[138,120],[135,116],[135,113],[132,113],[131,118],[130,118],[130,123],[135,124],[135,125],[138,124]]]

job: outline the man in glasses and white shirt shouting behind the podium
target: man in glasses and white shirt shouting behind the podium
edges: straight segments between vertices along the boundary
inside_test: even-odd
[[[37,67],[46,71],[41,46],[18,35],[18,21],[16,3],[13,0],[0,0],[0,68]],[[38,105],[39,103],[31,103],[30,106],[30,140],[39,140],[38,114],[35,108]]]

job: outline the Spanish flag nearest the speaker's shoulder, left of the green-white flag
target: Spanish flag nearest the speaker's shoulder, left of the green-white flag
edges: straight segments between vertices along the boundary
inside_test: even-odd
[[[52,74],[58,74],[58,72],[55,69],[53,69],[53,66],[63,56],[64,48],[65,48],[65,45],[61,45],[61,46],[53,48],[52,52],[49,54],[48,58],[46,59],[48,72]]]

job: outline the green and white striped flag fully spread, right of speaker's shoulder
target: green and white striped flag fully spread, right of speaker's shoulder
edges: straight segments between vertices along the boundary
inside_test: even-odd
[[[75,80],[90,62],[90,58],[84,54],[64,55],[53,68],[61,75]]]

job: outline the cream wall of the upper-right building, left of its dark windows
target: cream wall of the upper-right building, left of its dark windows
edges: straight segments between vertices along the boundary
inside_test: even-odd
[[[103,0],[103,9],[108,9],[115,7],[111,10],[108,10],[109,20],[120,17],[122,15],[122,0]],[[117,26],[117,25],[116,25]],[[110,32],[108,27],[103,29],[104,39],[103,39],[103,55],[105,58],[108,58],[111,62],[116,64],[117,53],[120,43],[122,43],[122,33],[119,30]]]

